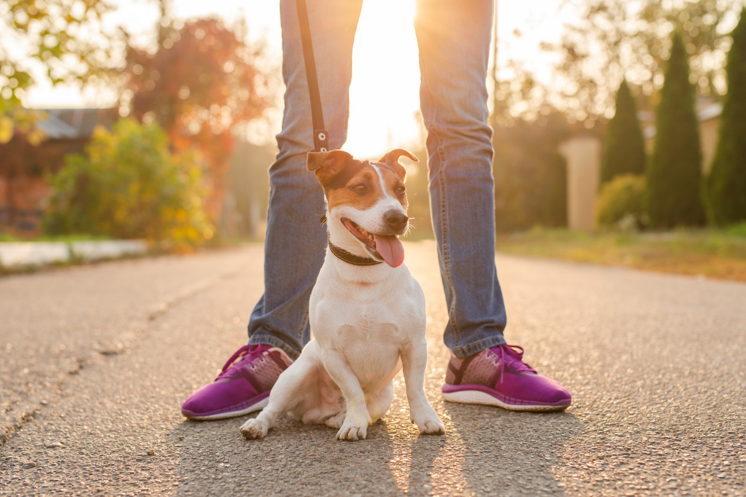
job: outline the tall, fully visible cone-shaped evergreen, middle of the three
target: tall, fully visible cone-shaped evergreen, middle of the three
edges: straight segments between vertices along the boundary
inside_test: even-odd
[[[648,215],[656,228],[700,225],[704,222],[702,151],[689,62],[678,33],[664,74],[656,109],[655,151],[646,171]]]

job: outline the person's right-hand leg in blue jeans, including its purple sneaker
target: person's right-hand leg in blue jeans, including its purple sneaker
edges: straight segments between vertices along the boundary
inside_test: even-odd
[[[448,303],[443,340],[453,352],[443,397],[518,411],[567,408],[561,384],[523,362],[503,337],[495,269],[495,185],[486,75],[492,0],[419,0],[422,115],[430,209]]]

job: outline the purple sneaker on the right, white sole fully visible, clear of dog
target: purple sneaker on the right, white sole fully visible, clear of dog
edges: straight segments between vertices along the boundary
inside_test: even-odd
[[[523,349],[502,344],[459,359],[451,354],[443,398],[511,411],[562,411],[572,402],[559,382],[522,361]]]

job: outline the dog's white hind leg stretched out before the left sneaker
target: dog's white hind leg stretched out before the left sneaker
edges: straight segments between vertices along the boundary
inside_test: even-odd
[[[313,384],[313,375],[318,373],[320,364],[313,354],[302,355],[280,373],[278,381],[269,393],[267,407],[259,416],[246,421],[241,426],[241,433],[246,440],[262,438],[269,428],[275,425],[278,417],[299,407],[308,399],[307,388]]]

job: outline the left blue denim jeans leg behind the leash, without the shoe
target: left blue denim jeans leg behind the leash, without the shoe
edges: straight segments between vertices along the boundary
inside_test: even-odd
[[[332,149],[347,138],[352,45],[362,0],[307,0],[324,120]],[[267,344],[297,358],[310,338],[308,300],[324,262],[324,192],[306,170],[313,126],[295,0],[280,1],[283,129],[269,168],[271,193],[264,261],[264,295],[248,323],[249,344]]]

